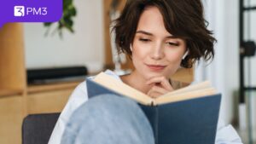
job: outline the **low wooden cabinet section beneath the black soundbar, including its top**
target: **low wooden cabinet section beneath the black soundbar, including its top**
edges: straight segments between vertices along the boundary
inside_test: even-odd
[[[61,112],[69,95],[80,82],[64,84],[31,85],[27,89],[27,112]]]

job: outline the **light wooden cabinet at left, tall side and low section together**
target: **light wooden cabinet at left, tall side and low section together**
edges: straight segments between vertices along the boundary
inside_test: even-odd
[[[0,143],[21,143],[21,124],[27,114],[61,112],[81,82],[26,84],[23,26],[0,29]]]

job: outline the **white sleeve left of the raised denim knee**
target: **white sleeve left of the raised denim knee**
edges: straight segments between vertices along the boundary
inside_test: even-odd
[[[66,128],[66,124],[71,114],[76,110],[79,106],[81,106],[85,101],[88,100],[87,89],[85,81],[77,86],[74,89],[72,95],[69,97],[67,101],[67,105],[64,107],[61,112],[60,117],[55,124],[55,128],[50,135],[48,144],[60,144],[61,136]]]

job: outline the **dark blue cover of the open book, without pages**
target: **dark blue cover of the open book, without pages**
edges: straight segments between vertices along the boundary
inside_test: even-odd
[[[102,94],[125,96],[92,79],[87,79],[86,85],[89,98]],[[221,95],[214,94],[156,105],[138,102],[138,105],[154,130],[156,144],[214,144],[220,101]]]

